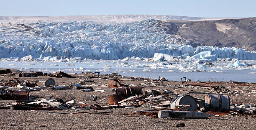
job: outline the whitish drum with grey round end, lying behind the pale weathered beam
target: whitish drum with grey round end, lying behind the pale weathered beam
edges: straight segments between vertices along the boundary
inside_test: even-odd
[[[190,105],[186,107],[187,110],[191,112],[195,112],[197,110],[197,101],[194,97],[190,95],[182,95],[180,97],[174,98],[172,102],[170,103],[171,109],[182,108],[184,106],[182,105]]]

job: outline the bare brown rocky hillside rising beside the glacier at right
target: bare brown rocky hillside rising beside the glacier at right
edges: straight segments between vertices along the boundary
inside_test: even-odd
[[[165,20],[162,28],[187,38],[193,46],[238,47],[256,50],[256,18],[210,21]]]

